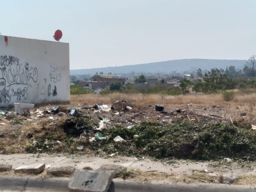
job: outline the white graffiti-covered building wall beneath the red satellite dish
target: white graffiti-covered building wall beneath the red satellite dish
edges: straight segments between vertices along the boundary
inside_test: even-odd
[[[0,107],[69,100],[68,43],[0,36]]]

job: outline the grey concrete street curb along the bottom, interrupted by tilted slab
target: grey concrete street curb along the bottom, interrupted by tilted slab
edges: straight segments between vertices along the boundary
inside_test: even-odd
[[[69,178],[39,179],[36,177],[0,176],[1,191],[68,192]],[[186,184],[163,181],[124,181],[114,179],[108,192],[255,192],[254,187],[224,184]]]

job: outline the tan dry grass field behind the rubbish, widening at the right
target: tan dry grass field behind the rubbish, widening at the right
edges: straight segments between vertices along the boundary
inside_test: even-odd
[[[71,103],[75,105],[94,105],[95,103],[111,104],[116,100],[127,100],[136,105],[155,105],[162,104],[164,107],[180,108],[180,105],[216,106],[222,105],[224,114],[230,114],[232,119],[241,118],[240,113],[246,112],[246,120],[252,124],[256,124],[256,93],[242,94],[237,93],[233,101],[224,101],[221,94],[188,94],[179,96],[170,96],[162,94],[146,94],[141,93],[124,94],[113,93],[108,95],[86,94],[71,95]],[[184,107],[184,106],[183,106]],[[229,117],[227,117],[229,118]]]

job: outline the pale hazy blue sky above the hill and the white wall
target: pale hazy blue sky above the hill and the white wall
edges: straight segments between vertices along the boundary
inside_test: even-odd
[[[70,46],[70,69],[256,54],[255,0],[8,0],[0,32]]]

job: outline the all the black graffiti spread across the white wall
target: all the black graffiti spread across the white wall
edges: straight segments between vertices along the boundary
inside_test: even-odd
[[[50,73],[39,81],[38,70],[30,63],[14,56],[0,56],[0,104],[27,100],[29,90],[33,92],[35,86],[39,95],[47,96],[48,92],[48,97],[57,96],[57,83],[63,70],[62,67],[50,65]]]

